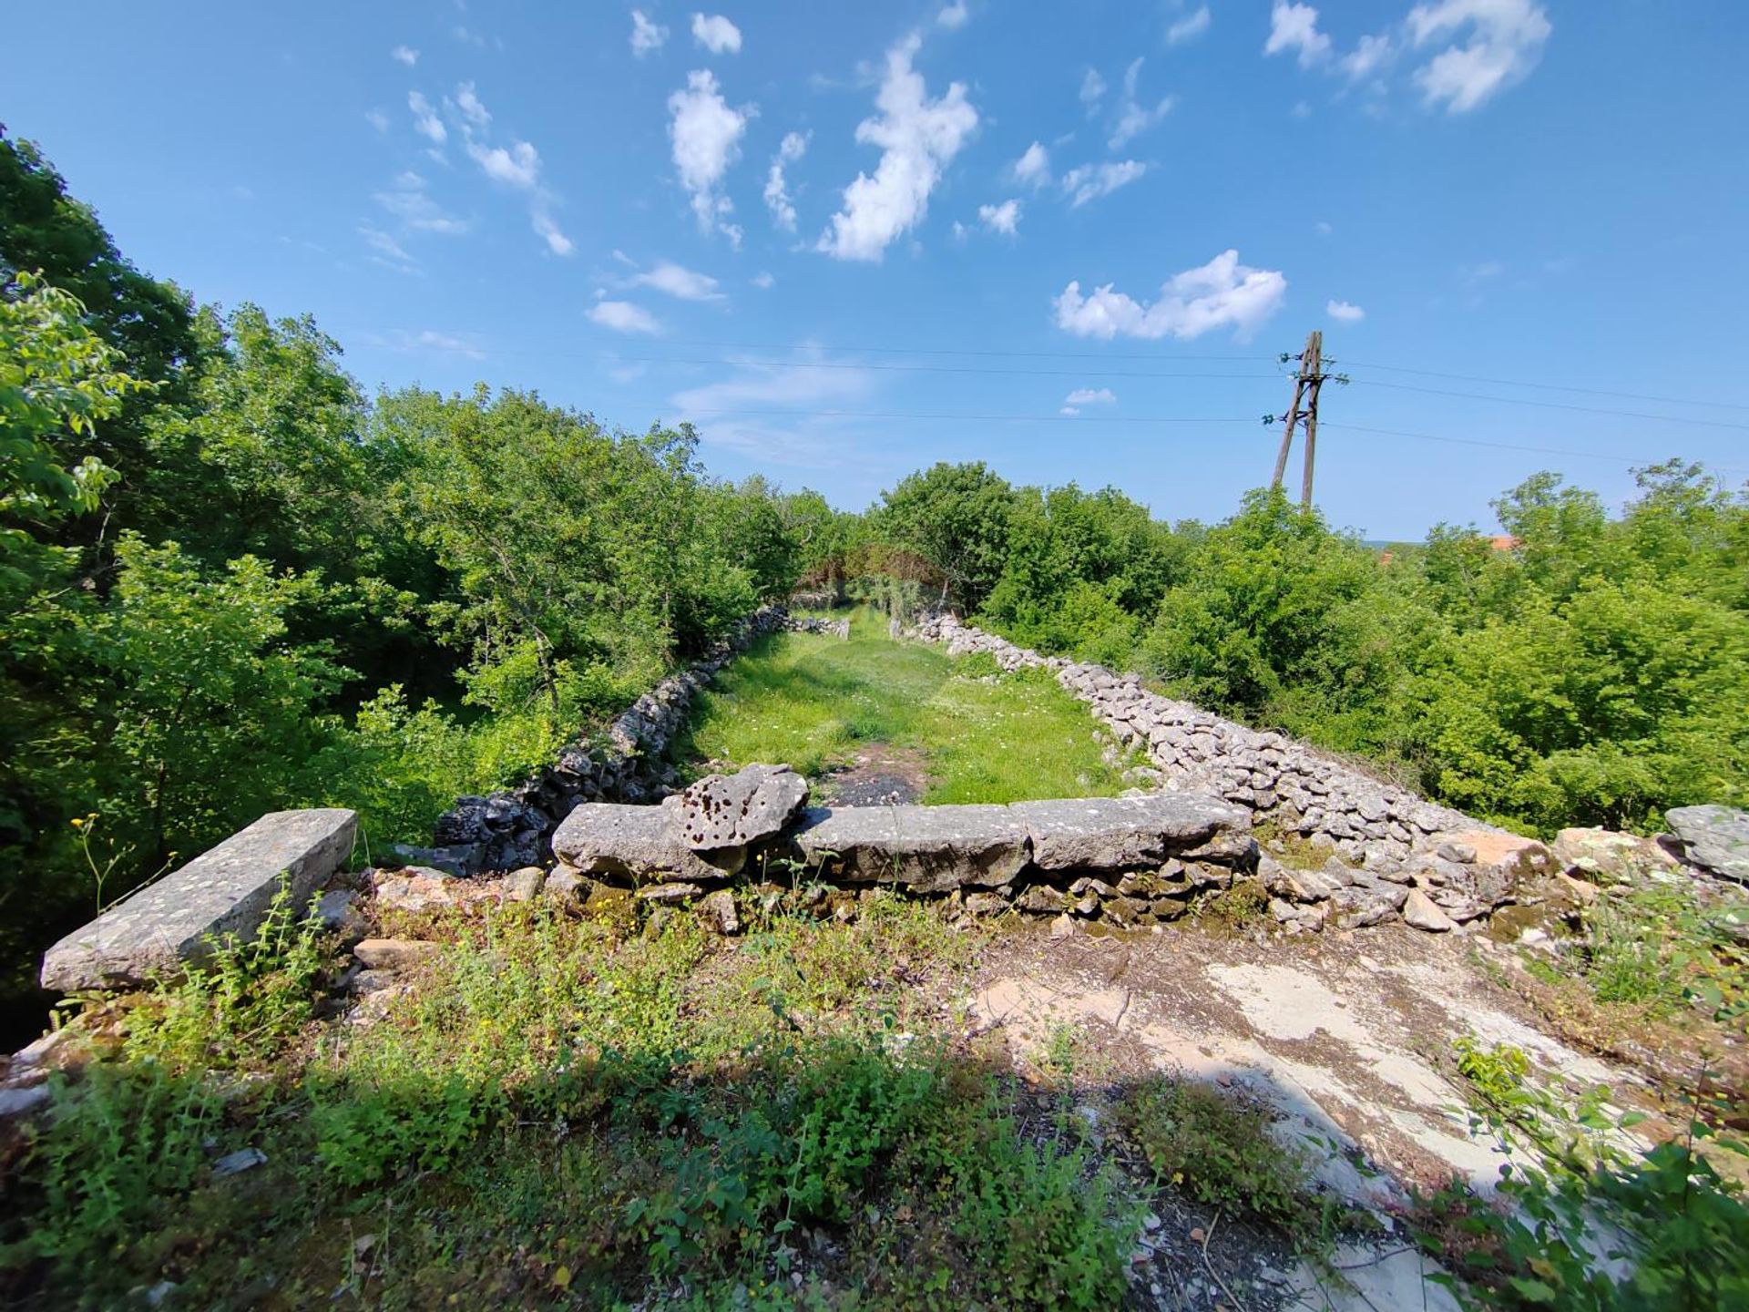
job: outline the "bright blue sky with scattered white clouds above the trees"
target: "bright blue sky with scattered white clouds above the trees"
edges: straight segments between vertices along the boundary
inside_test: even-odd
[[[1735,0],[68,0],[7,26],[42,58],[7,61],[0,115],[122,250],[313,313],[367,387],[689,418],[715,472],[848,507],[981,458],[1221,518],[1315,327],[1355,380],[1324,394],[1317,500],[1368,537],[1492,525],[1536,469],[1611,500],[1670,455],[1749,478]]]

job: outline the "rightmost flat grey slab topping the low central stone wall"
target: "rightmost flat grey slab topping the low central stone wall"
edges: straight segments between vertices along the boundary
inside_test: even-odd
[[[1251,813],[1207,796],[1016,801],[1039,869],[1137,869],[1223,834],[1251,833]]]

